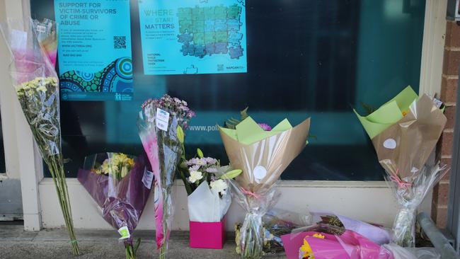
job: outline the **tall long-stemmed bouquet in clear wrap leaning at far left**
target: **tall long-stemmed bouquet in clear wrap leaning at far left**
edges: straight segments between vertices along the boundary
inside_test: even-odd
[[[72,253],[79,255],[62,158],[59,84],[56,71],[44,48],[39,44],[31,22],[9,21],[8,25],[1,24],[0,29],[13,57],[9,71],[19,103],[40,154],[52,175],[69,233]]]

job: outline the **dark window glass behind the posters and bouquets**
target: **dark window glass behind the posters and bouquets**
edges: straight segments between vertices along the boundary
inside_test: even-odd
[[[52,0],[31,3],[35,16],[54,17]],[[248,106],[272,126],[284,117],[297,124],[311,116],[310,144],[282,178],[383,180],[352,107],[379,106],[407,85],[418,91],[424,0],[246,0],[248,73],[174,76],[143,74],[137,1],[131,4],[134,100],[62,102],[71,175],[88,154],[139,154],[140,104],[169,93],[197,112],[186,139],[189,154],[200,146],[226,161],[213,126]]]

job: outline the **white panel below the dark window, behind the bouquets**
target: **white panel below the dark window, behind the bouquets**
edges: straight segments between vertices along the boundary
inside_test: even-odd
[[[111,229],[100,216],[99,209],[78,180],[67,180],[77,229]],[[332,182],[285,180],[279,185],[282,192],[275,207],[292,212],[335,212],[347,217],[391,226],[398,205],[393,193],[384,182]],[[176,181],[173,188],[173,230],[188,230],[188,209],[183,183]],[[154,229],[153,193],[149,197],[137,229]],[[431,193],[420,209],[430,213]],[[64,226],[54,185],[50,178],[40,183],[42,226],[56,228]],[[234,224],[244,219],[243,209],[236,202],[227,214],[226,230],[234,231]]]

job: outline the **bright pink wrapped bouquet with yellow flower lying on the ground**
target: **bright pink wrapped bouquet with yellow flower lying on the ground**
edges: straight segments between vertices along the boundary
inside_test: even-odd
[[[393,259],[393,253],[355,231],[330,225],[296,229],[281,237],[287,259]]]

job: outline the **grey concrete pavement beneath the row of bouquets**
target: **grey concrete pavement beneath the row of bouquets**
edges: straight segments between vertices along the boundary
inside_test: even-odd
[[[69,238],[64,229],[23,231],[21,225],[0,224],[0,258],[125,258],[125,247],[122,243],[118,243],[119,236],[115,230],[76,229],[76,237],[79,239],[79,247],[83,253],[79,257],[71,255]],[[142,238],[137,258],[158,258],[154,231],[135,231],[134,237]],[[239,256],[235,252],[233,237],[229,237],[222,250],[195,249],[188,247],[188,232],[178,231],[171,234],[168,258],[226,259],[239,258]],[[268,258],[284,258],[284,255]]]

